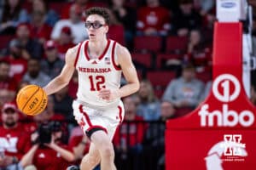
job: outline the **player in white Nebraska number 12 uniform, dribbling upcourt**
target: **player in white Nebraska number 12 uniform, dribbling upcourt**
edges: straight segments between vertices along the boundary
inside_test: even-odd
[[[89,40],[67,50],[61,74],[44,90],[48,95],[54,94],[67,86],[75,69],[78,71],[79,89],[73,114],[91,141],[80,169],[91,170],[101,162],[102,170],[115,170],[113,133],[124,117],[120,98],[137,92],[137,71],[127,48],[107,38],[108,9],[89,8],[85,14]],[[121,72],[127,84],[120,88]]]

